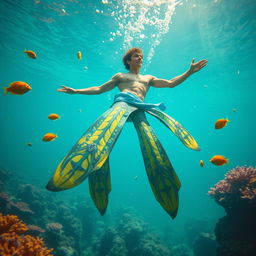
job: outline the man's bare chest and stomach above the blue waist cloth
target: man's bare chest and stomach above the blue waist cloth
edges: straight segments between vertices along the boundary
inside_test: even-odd
[[[153,76],[132,73],[118,73],[116,75],[116,79],[117,86],[121,92],[131,92],[144,101]]]

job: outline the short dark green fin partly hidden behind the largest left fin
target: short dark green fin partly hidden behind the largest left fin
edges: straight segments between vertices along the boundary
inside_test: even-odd
[[[109,158],[99,170],[90,173],[88,181],[91,198],[100,214],[104,215],[108,206],[108,194],[111,191]]]

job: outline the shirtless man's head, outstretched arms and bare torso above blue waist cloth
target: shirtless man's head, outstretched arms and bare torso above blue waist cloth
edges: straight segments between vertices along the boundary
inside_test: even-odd
[[[142,66],[142,62],[142,50],[140,48],[131,48],[123,57],[125,68],[129,70],[128,73],[117,73],[112,77],[111,80],[100,86],[94,86],[85,89],[73,89],[71,87],[62,85],[63,88],[58,89],[58,91],[69,94],[92,95],[110,91],[117,86],[121,92],[133,93],[137,95],[142,101],[144,101],[150,86],[156,88],[173,88],[184,82],[189,76],[201,70],[207,64],[207,60],[200,60],[195,63],[193,59],[188,71],[180,76],[172,78],[171,80],[165,80],[156,78],[151,75],[141,75],[140,68]]]

